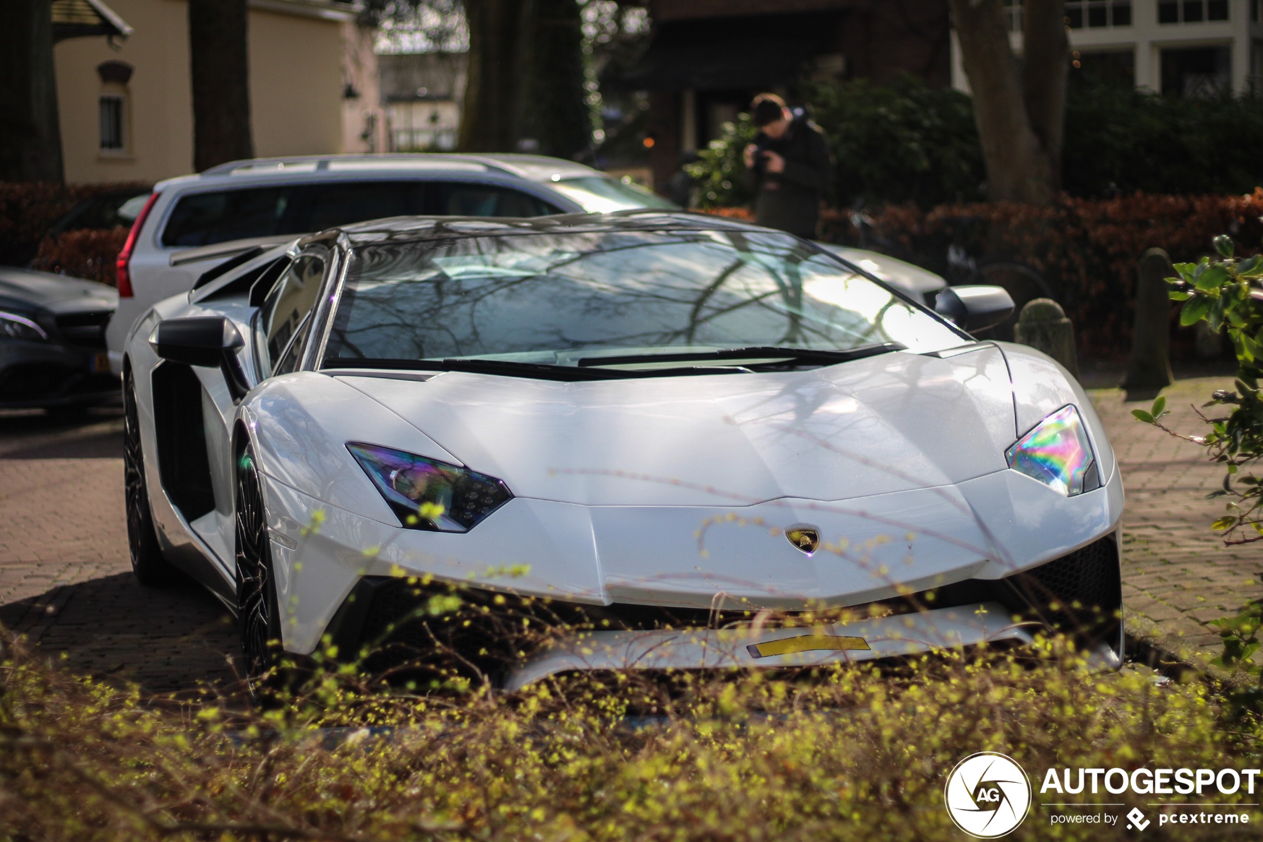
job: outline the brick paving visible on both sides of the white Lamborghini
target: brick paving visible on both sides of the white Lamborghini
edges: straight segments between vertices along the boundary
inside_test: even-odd
[[[1167,390],[1172,425],[1191,433],[1188,404],[1230,379]],[[1223,549],[1205,500],[1220,473],[1201,451],[1134,422],[1119,390],[1095,390],[1127,485],[1124,600],[1130,629],[1196,658],[1218,640],[1204,624],[1263,588],[1259,547]],[[121,419],[80,425],[0,413],[0,624],[85,673],[124,677],[150,692],[230,683],[236,637],[227,614],[193,584],[150,590],[128,564]]]

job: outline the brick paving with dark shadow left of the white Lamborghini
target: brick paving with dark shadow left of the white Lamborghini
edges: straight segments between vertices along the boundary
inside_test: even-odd
[[[123,420],[0,414],[0,624],[81,673],[145,691],[231,683],[230,617],[184,583],[131,577],[123,510]]]

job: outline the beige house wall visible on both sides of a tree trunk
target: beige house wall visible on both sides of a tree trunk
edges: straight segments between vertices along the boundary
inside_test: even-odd
[[[259,157],[344,150],[342,27],[349,15],[316,6],[302,0],[251,4],[250,112]],[[157,182],[188,174],[188,6],[184,0],[110,0],[110,8],[135,29],[117,49],[105,38],[72,38],[54,47],[66,181]],[[134,68],[120,151],[100,149],[99,97],[106,86],[96,68],[107,61]]]

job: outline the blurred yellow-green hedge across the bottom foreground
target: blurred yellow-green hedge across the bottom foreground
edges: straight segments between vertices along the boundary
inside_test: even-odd
[[[421,698],[330,673],[264,713],[141,701],[10,650],[0,839],[959,839],[942,788],[973,752],[1018,760],[1038,803],[1053,765],[1258,768],[1257,723],[1224,722],[1201,684],[1092,673],[1053,644],[669,692],[623,674]],[[1012,838],[1128,837],[1048,817]]]

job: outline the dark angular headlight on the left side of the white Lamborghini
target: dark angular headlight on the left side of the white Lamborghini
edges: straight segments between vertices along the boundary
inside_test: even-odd
[[[376,444],[346,449],[408,529],[469,531],[513,499],[503,481],[477,471]]]

